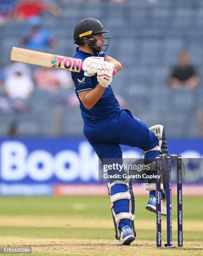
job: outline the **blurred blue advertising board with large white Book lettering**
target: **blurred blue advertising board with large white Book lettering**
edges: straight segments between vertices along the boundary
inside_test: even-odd
[[[170,153],[200,159],[203,140],[168,140]],[[138,148],[121,146],[123,158],[140,158]],[[201,165],[192,183],[203,184]],[[186,183],[190,180],[186,180]],[[0,140],[0,195],[53,195],[60,188],[98,184],[98,157],[80,138]],[[84,191],[85,192],[85,191]]]

